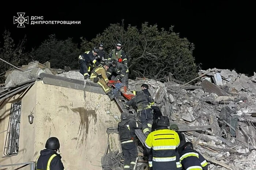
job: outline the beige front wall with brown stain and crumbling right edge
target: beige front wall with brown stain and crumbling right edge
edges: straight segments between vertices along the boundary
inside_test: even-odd
[[[65,169],[101,169],[108,127],[117,126],[120,111],[107,95],[37,83],[34,160],[49,137],[60,140]]]

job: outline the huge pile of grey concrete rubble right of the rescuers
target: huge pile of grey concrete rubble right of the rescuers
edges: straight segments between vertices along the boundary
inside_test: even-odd
[[[196,86],[168,77],[165,83],[129,80],[129,88],[138,91],[147,83],[155,105],[211,163],[210,169],[256,169],[256,74],[216,68],[198,74]]]

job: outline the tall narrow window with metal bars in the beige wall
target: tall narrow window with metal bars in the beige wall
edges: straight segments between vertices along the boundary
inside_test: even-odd
[[[4,145],[4,155],[18,154],[21,100],[11,104],[11,111]]]

